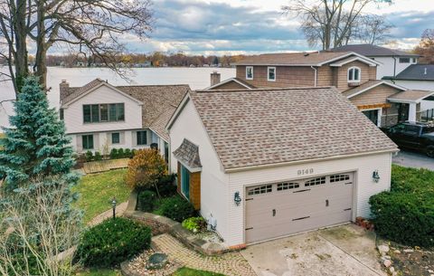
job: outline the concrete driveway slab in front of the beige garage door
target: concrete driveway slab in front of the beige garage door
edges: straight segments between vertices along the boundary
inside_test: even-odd
[[[375,234],[354,224],[250,245],[241,254],[259,276],[386,275]]]

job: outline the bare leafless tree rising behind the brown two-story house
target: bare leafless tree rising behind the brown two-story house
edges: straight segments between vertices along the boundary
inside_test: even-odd
[[[392,0],[290,0],[282,10],[301,19],[301,30],[310,46],[321,44],[323,50],[329,50],[357,38],[355,26],[363,23],[363,9],[381,2]]]

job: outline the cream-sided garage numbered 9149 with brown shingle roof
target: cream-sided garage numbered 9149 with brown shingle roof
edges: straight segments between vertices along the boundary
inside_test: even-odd
[[[178,190],[234,247],[369,217],[398,150],[335,88],[189,91],[167,130]]]

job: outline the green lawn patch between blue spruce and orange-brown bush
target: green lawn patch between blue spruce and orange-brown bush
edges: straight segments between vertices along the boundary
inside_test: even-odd
[[[111,199],[116,196],[118,203],[127,201],[130,188],[124,182],[127,169],[111,170],[104,173],[82,176],[73,190],[80,194],[75,206],[84,211],[84,223],[111,208]]]

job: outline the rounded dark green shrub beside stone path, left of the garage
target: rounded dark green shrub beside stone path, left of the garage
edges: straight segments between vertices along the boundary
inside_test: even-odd
[[[126,218],[108,219],[83,234],[76,258],[87,266],[110,267],[149,249],[151,230]]]

